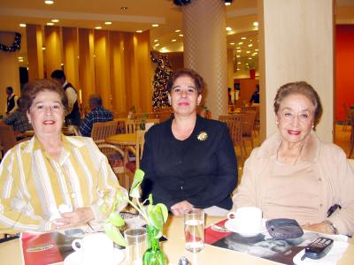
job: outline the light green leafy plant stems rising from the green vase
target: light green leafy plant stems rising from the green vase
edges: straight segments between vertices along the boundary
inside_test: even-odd
[[[119,246],[127,246],[127,242],[124,239],[123,235],[119,231],[119,227],[124,225],[123,218],[119,215],[119,212],[116,211],[117,206],[122,201],[127,201],[133,208],[135,208],[140,216],[144,218],[148,226],[154,227],[157,234],[154,237],[159,239],[162,236],[162,228],[167,221],[168,209],[165,204],[158,203],[153,205],[152,195],[149,195],[149,198],[143,202],[140,202],[140,192],[139,188],[142,184],[145,173],[142,170],[135,170],[135,176],[133,184],[130,188],[129,197],[125,196],[123,193],[117,191],[117,196],[112,205],[112,212],[104,223],[104,232],[106,235],[112,239]],[[132,199],[130,199],[130,197]],[[107,211],[107,208],[101,209],[103,212]]]

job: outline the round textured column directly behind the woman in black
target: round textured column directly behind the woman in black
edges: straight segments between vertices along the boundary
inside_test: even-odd
[[[224,1],[197,0],[182,7],[184,65],[207,85],[204,105],[212,118],[227,113],[227,34]]]

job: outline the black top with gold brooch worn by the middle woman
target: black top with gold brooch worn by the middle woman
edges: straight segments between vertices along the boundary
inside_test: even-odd
[[[196,208],[232,208],[237,162],[227,125],[197,116],[189,138],[176,140],[172,121],[154,125],[145,134],[142,198],[152,193],[154,204],[163,202],[167,208],[184,200]],[[198,140],[203,132],[207,139]]]

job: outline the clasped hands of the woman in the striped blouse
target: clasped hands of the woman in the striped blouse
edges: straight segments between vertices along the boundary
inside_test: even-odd
[[[81,225],[86,225],[95,218],[94,212],[89,207],[76,208],[73,212],[63,213],[61,218],[55,219],[51,225],[53,230],[65,230]]]

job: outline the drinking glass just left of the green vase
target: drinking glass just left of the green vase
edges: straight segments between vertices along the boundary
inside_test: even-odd
[[[127,261],[129,265],[141,265],[142,256],[148,248],[146,229],[129,228],[124,231],[124,238],[127,240]]]

